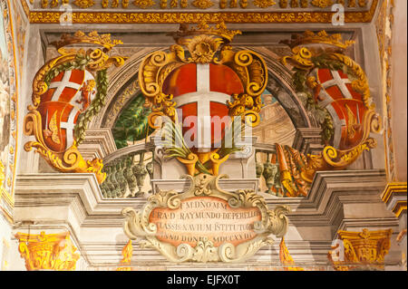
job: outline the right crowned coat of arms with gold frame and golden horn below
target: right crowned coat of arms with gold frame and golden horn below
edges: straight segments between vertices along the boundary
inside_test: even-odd
[[[293,55],[283,57],[282,63],[292,69],[297,95],[320,123],[325,143],[320,155],[306,156],[276,144],[272,159],[280,173],[279,186],[288,197],[302,197],[316,171],[345,169],[364,150],[374,149],[376,140],[369,135],[382,132],[382,121],[363,69],[344,53],[352,42],[343,42],[340,34],[307,31],[286,43]],[[258,175],[265,175],[265,169],[259,168]]]

